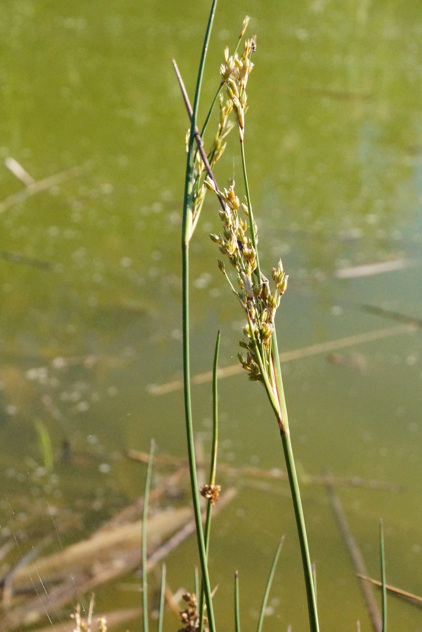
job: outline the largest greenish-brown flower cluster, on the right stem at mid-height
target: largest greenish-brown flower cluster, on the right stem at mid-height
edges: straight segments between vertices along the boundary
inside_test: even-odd
[[[239,353],[239,361],[243,368],[249,372],[251,380],[258,380],[263,383],[265,377],[271,374],[270,352],[274,317],[280,304],[280,298],[286,291],[288,277],[284,274],[280,260],[277,268],[273,268],[272,278],[275,289],[272,292],[268,279],[263,276],[258,279],[255,274],[256,251],[250,236],[246,234],[248,224],[238,215],[239,207],[242,207],[245,214],[248,215],[248,207],[245,204],[240,204],[238,196],[234,193],[234,180],[229,180],[229,188],[225,188],[224,191],[217,190],[210,178],[207,178],[205,185],[210,190],[215,191],[224,203],[224,210],[219,210],[219,216],[223,223],[222,233],[210,234],[210,238],[219,245],[220,252],[227,256],[236,270],[238,291],[234,289],[227,276],[224,263],[219,260],[219,268],[238,296],[248,319],[248,324],[243,330],[245,339],[240,343],[241,347],[246,349],[246,359]],[[254,228],[257,243],[256,225]],[[272,382],[271,379],[270,382]]]

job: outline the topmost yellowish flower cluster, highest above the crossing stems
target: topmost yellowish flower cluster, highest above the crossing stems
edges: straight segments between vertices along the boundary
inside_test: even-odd
[[[229,56],[229,49],[226,48],[224,51],[224,64],[221,64],[220,67],[221,83],[226,84],[227,94],[233,104],[241,142],[243,142],[244,114],[248,100],[246,83],[248,83],[248,76],[253,69],[250,56],[255,49],[254,39],[248,39],[244,42],[244,49],[241,55],[236,52],[234,55]]]

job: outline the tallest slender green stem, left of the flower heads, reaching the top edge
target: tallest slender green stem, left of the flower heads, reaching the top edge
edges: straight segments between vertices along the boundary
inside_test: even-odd
[[[188,442],[188,460],[191,480],[191,492],[193,501],[193,511],[195,514],[196,538],[198,540],[198,552],[201,564],[203,590],[205,592],[205,602],[207,604],[208,624],[210,632],[215,632],[214,611],[212,608],[212,596],[210,579],[207,568],[207,554],[203,537],[201,508],[199,502],[198,480],[196,477],[195,447],[193,441],[193,421],[191,408],[191,386],[190,386],[190,332],[189,332],[189,241],[192,228],[192,178],[193,178],[193,143],[195,142],[196,116],[198,113],[198,103],[202,84],[203,68],[207,55],[208,42],[210,39],[212,22],[215,15],[217,0],[213,0],[208,18],[207,30],[203,42],[202,56],[196,81],[195,100],[193,102],[191,116],[191,130],[188,147],[188,157],[186,162],[186,178],[184,183],[184,203],[182,222],[182,284],[183,284],[183,380],[184,380],[184,410],[186,417],[186,438]]]

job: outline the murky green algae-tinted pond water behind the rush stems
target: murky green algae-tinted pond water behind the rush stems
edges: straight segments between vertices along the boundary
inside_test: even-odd
[[[145,469],[126,449],[154,437],[160,454],[185,454],[182,391],[151,385],[181,377],[188,119],[171,59],[192,95],[207,12],[205,1],[0,5],[0,524],[18,540],[15,560],[56,529],[51,549],[87,535],[140,495]],[[246,14],[258,42],[245,146],[261,265],[270,276],[282,257],[289,274],[280,351],[311,348],[284,356],[282,371],[321,626],[360,619],[369,630],[327,492],[307,475],[399,485],[336,490],[369,573],[380,574],[382,517],[387,581],[421,594],[422,12],[415,1],[220,0],[201,116]],[[7,157],[35,181],[66,173],[10,197],[25,185]],[[216,169],[220,183],[233,175],[240,186],[236,134]],[[193,375],[210,370],[219,328],[220,365],[234,365],[243,327],[208,238],[216,210],[208,197],[191,245]],[[221,463],[284,470],[263,389],[239,373],[219,392]],[[207,451],[209,382],[193,387],[193,406]],[[251,478],[213,525],[219,629],[233,626],[236,569],[243,628],[256,626],[282,535],[265,629],[306,629],[289,490]],[[196,563],[192,537],[167,558],[172,590],[193,590]],[[139,585],[131,574],[100,590],[99,609],[137,605]],[[389,621],[422,630],[420,611],[394,597]]]

